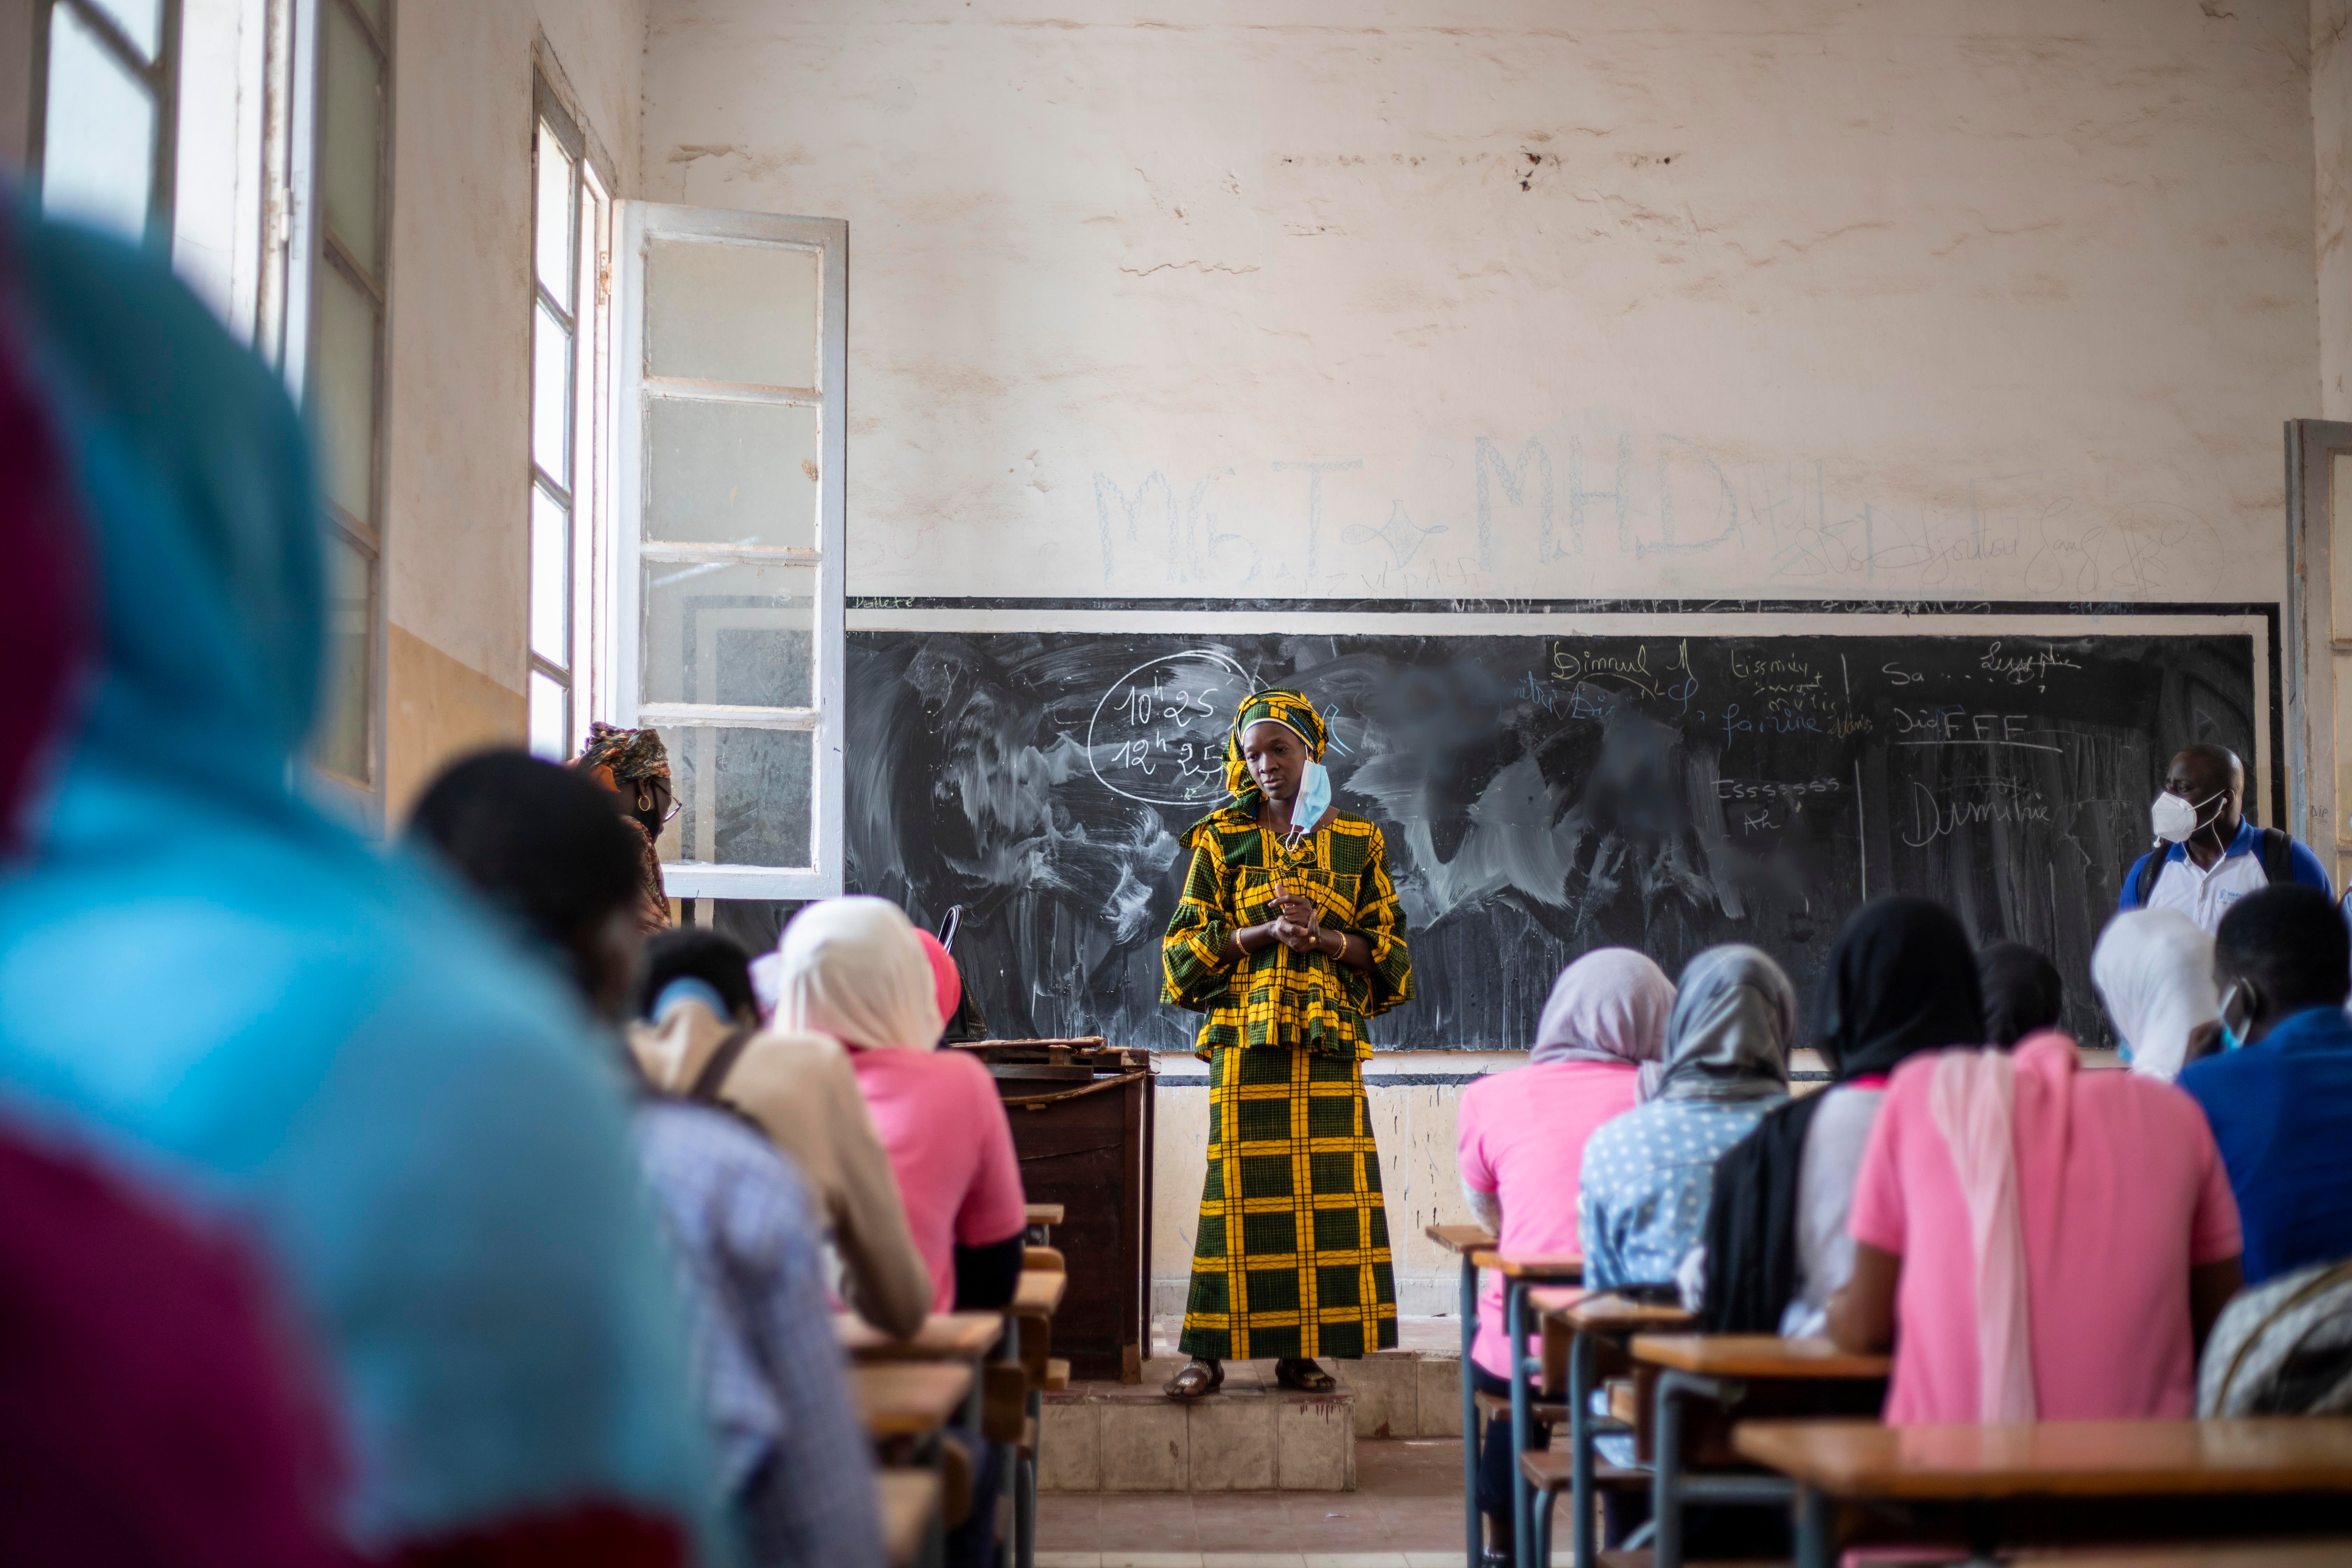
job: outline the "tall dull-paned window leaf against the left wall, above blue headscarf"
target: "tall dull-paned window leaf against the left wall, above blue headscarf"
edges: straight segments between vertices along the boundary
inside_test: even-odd
[[[310,228],[303,411],[327,496],[329,646],[310,762],[360,790],[379,773],[383,308],[390,235],[390,0],[315,0],[303,118]]]

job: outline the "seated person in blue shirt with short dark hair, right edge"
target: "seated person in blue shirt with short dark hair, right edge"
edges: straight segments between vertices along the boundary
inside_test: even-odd
[[[2246,1284],[2352,1258],[2352,933],[2326,893],[2263,889],[2223,917],[2213,980],[2241,1044],[2180,1088],[2230,1171]]]

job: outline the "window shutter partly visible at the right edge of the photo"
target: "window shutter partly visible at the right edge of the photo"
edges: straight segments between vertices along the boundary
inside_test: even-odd
[[[2352,875],[2352,423],[2286,421],[2286,816]]]

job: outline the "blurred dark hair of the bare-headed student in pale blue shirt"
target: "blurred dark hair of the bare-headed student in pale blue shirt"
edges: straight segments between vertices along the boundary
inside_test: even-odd
[[[612,795],[527,752],[475,752],[442,769],[407,837],[567,957],[637,900],[637,835]]]

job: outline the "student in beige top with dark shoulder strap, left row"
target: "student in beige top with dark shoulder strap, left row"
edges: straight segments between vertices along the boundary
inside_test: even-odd
[[[915,1251],[889,1154],[840,1041],[755,1032],[750,961],[717,931],[684,926],[644,945],[640,1018],[628,1048],[663,1093],[724,1100],[760,1124],[816,1197],[840,1253],[842,1298],[884,1333],[910,1335],[931,1312],[931,1269]],[[715,1081],[703,1081],[713,1077]]]

